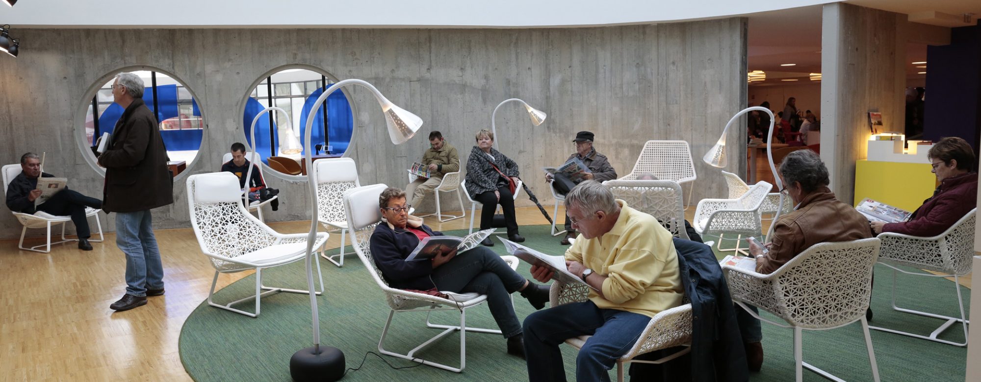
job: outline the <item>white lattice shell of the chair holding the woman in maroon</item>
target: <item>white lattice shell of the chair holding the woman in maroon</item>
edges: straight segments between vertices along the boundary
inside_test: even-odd
[[[879,260],[883,263],[914,266],[958,276],[971,272],[974,256],[974,227],[977,209],[958,219],[934,237],[883,233]]]

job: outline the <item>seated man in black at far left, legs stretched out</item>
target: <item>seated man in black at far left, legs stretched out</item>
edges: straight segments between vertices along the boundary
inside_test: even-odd
[[[92,244],[88,242],[91,232],[88,229],[88,218],[85,217],[85,207],[101,209],[102,201],[84,196],[67,186],[57,187],[65,184],[64,178],[49,185],[61,190],[56,190],[53,195],[42,196],[44,190],[37,187],[38,177],[58,179],[50,173],[41,172],[41,160],[37,154],[26,153],[21,156],[21,174],[10,181],[7,189],[7,207],[15,213],[34,214],[41,211],[51,215],[72,216],[78,235],[78,249],[91,251]]]

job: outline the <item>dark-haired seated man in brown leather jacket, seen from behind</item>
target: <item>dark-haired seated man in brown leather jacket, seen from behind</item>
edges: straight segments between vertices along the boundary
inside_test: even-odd
[[[868,219],[839,201],[828,188],[828,167],[813,151],[799,150],[784,158],[780,178],[794,201],[794,210],[781,215],[774,223],[770,242],[765,244],[768,253],[749,243],[749,253],[756,257],[757,272],[772,273],[814,244],[872,237]],[[737,310],[736,315],[749,369],[758,371],[763,363],[759,320],[746,310]]]

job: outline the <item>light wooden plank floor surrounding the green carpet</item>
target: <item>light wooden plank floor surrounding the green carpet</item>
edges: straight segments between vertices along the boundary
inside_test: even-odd
[[[560,209],[560,222],[562,214]],[[694,214],[695,206],[686,215],[691,219]],[[547,223],[535,208],[518,209],[517,215],[522,225]],[[469,215],[443,223],[427,218],[438,230],[465,229],[469,222]],[[270,225],[294,233],[307,231],[310,222]],[[126,259],[115,235],[93,243],[90,252],[68,243],[39,254],[19,251],[16,240],[0,241],[0,379],[189,381],[178,353],[181,326],[207,298],[214,268],[201,255],[191,229],[158,230],[156,235],[167,294],[149,298],[145,307],[115,313],[109,305],[126,288]],[[328,246],[336,248],[339,240],[332,234]],[[250,273],[222,274],[218,288]],[[970,279],[964,284],[969,287]]]

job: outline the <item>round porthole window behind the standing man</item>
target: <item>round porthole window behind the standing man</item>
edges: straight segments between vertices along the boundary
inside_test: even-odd
[[[167,146],[169,165],[177,176],[197,158],[204,132],[204,118],[196,97],[180,79],[168,72],[148,67],[129,68],[101,77],[85,97],[83,146],[95,165],[95,150],[105,134],[112,134],[125,111],[113,101],[111,85],[116,75],[132,72],[143,79],[143,102],[160,123],[160,135]]]

